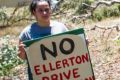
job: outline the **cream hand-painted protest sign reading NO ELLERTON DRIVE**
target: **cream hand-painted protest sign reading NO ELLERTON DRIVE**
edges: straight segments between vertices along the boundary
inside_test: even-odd
[[[29,43],[33,80],[95,80],[83,29]]]

